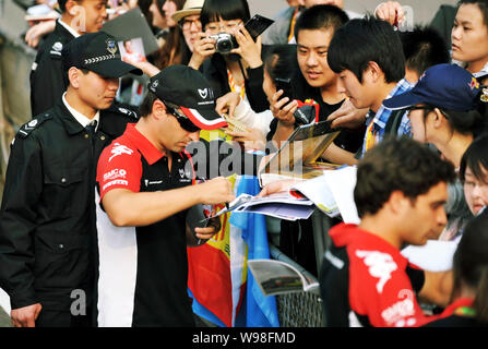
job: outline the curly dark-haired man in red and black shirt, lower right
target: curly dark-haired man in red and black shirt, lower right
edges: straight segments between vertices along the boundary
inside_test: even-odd
[[[359,225],[330,230],[320,288],[328,326],[412,327],[438,318],[417,297],[447,305],[452,273],[420,270],[401,254],[424,245],[447,222],[452,164],[408,137],[389,137],[359,161],[354,200]]]

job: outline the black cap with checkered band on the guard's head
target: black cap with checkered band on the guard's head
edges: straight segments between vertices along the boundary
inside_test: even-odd
[[[128,73],[142,75],[139,68],[121,60],[116,38],[104,32],[88,33],[72,39],[61,55],[66,71],[76,67],[107,77],[121,77]]]

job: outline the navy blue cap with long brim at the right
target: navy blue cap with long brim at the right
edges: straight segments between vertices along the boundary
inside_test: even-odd
[[[397,110],[425,104],[443,110],[469,111],[476,109],[481,88],[467,70],[455,64],[429,68],[413,89],[385,99],[386,109]]]

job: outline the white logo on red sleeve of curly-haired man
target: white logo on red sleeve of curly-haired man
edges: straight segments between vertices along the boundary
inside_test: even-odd
[[[377,284],[377,290],[380,293],[383,292],[384,285],[390,280],[392,273],[398,268],[393,257],[379,251],[357,250],[356,255],[364,258],[365,264],[369,267],[369,274],[380,279]]]

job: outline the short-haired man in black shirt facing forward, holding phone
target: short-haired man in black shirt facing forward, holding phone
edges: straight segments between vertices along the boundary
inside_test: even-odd
[[[329,67],[328,50],[334,33],[347,21],[347,14],[340,8],[320,4],[303,11],[295,27],[299,71],[293,81],[293,97],[300,101],[311,99],[318,104],[319,121],[325,120],[331,112],[340,108],[346,97],[337,91],[338,76]],[[279,92],[274,95],[271,110],[278,121],[273,121],[271,128],[276,130],[273,137],[275,141],[286,140],[295,130],[297,124],[294,113],[297,108],[297,100],[288,104]],[[361,137],[360,132],[344,130],[334,143],[342,149],[355,153],[360,147]],[[350,154],[347,156],[352,158]]]

